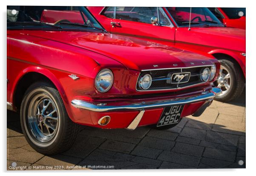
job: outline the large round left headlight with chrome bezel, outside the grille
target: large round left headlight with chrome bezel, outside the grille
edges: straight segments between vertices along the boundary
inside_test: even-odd
[[[102,87],[102,83],[103,82],[100,83],[100,81],[103,81],[103,79],[101,79],[100,77],[105,76],[105,75],[103,75],[103,72],[106,72],[104,74],[108,74],[108,77],[110,77],[110,80],[107,80],[105,78],[105,82],[109,82],[108,85],[107,85],[107,88],[103,88]],[[100,93],[105,93],[105,92],[109,91],[109,89],[111,89],[113,83],[114,83],[114,75],[113,75],[113,72],[110,69],[102,69],[102,70],[100,70],[99,73],[97,74],[97,76],[95,77],[95,80],[94,80],[95,88]]]

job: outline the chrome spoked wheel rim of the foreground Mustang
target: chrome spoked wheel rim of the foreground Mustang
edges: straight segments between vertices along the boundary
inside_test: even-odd
[[[27,97],[28,98],[26,99],[24,106],[25,110],[23,112],[23,123],[26,133],[29,139],[35,145],[40,147],[48,147],[55,141],[59,133],[61,120],[59,107],[57,106],[53,96],[42,88],[31,91]],[[42,109],[44,107],[42,106],[43,103],[49,103],[48,107],[46,107],[47,104],[44,104],[44,110]],[[49,107],[50,105],[51,108]],[[38,107],[41,107],[41,110],[39,109],[38,111]],[[53,108],[56,110],[56,112],[51,114],[51,112],[54,111]],[[51,112],[49,111],[50,109],[52,109]],[[48,114],[45,114],[47,110]],[[49,119],[51,120],[49,121]],[[49,126],[53,129],[49,129]]]

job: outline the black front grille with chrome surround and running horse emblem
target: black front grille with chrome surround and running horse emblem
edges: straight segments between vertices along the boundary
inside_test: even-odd
[[[201,79],[201,71],[205,68],[211,70],[211,66],[197,66],[197,67],[189,67],[189,68],[179,68],[179,69],[159,69],[159,70],[148,70],[142,71],[139,75],[138,82],[137,82],[137,91],[154,91],[154,90],[163,90],[163,89],[177,89],[177,88],[184,88],[196,84],[201,84],[206,81]],[[172,75],[176,74],[183,74],[190,73],[190,77],[186,82],[170,82]],[[152,84],[150,88],[144,90],[139,87],[139,80],[145,74],[150,74],[152,77]]]

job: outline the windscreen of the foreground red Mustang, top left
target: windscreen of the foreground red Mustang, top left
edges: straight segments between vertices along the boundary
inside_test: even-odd
[[[87,8],[75,6],[7,6],[7,28],[104,30]]]

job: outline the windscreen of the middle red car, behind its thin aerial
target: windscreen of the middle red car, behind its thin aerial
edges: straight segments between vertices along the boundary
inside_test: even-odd
[[[203,7],[167,7],[178,26],[188,26],[191,9],[191,26],[225,26],[208,8]]]

